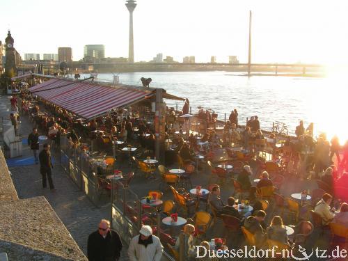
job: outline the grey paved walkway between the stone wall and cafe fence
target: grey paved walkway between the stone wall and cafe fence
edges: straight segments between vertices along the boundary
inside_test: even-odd
[[[1,100],[1,102],[3,101]],[[31,132],[32,125],[26,117],[22,117],[21,120],[22,136],[24,136],[23,139],[26,139]],[[29,155],[31,155],[31,150],[27,145],[23,145],[23,157]],[[100,219],[111,218],[110,205],[105,208],[95,207],[59,165],[54,166],[52,170],[56,192],[42,189],[39,165],[13,167],[10,168],[10,171],[19,198],[45,196],[65,227],[68,228],[72,238],[87,255],[88,235],[97,229]],[[123,248],[120,260],[128,260],[127,246]]]

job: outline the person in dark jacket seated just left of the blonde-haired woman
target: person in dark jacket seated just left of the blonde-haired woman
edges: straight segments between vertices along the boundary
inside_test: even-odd
[[[259,210],[255,213],[255,216],[248,216],[244,221],[244,227],[255,236],[257,247],[261,247],[264,244],[264,230],[266,230],[265,218],[266,212]]]

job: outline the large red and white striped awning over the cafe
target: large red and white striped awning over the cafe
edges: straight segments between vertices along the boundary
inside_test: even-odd
[[[86,119],[138,102],[150,94],[133,88],[100,86],[68,79],[50,79],[29,88],[29,91]]]

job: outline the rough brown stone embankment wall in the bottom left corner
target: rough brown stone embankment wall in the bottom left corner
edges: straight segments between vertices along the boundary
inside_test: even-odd
[[[87,260],[43,196],[20,200],[0,150],[0,253],[9,260]]]

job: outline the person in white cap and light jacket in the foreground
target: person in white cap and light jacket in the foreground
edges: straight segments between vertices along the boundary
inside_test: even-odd
[[[162,253],[161,241],[152,235],[150,226],[142,226],[140,235],[132,238],[128,248],[130,261],[160,261]]]

